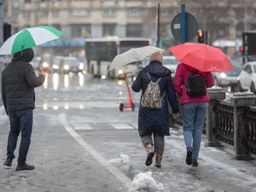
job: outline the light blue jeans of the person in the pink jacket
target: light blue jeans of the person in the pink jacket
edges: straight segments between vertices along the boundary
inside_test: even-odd
[[[208,102],[182,105],[183,137],[186,147],[193,148],[193,159],[198,159],[201,146],[201,133],[207,116]]]

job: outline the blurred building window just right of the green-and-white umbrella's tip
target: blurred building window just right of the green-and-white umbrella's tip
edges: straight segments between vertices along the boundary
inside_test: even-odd
[[[90,24],[71,25],[73,38],[90,38]]]

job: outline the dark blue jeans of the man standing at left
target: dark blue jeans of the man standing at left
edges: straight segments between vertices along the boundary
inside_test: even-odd
[[[8,137],[7,156],[15,159],[15,148],[21,132],[18,162],[19,164],[24,164],[26,162],[26,154],[31,143],[33,124],[32,109],[9,112],[9,124],[10,131]]]

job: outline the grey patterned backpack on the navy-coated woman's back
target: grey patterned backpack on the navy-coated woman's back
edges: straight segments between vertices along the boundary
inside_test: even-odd
[[[150,83],[148,84],[144,95],[142,95],[142,106],[143,108],[160,109],[162,107],[162,99],[166,94],[165,93],[163,96],[161,96],[160,94],[159,82],[161,78],[158,79],[156,82],[153,82],[150,78],[149,73],[148,77],[150,79]]]

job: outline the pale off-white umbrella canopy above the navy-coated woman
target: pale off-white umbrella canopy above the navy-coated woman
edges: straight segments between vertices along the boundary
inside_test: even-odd
[[[145,46],[141,48],[136,49],[130,49],[126,51],[125,53],[122,53],[120,55],[116,55],[110,64],[109,70],[111,71],[114,68],[123,67],[129,63],[135,62],[135,61],[142,61],[145,57],[154,54],[156,52],[165,52],[164,49],[159,49],[153,46]]]

